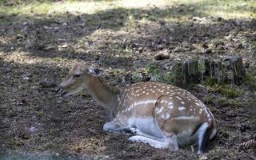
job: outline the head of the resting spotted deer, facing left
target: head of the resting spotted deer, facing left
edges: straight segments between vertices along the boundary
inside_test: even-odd
[[[91,66],[89,63],[79,62],[60,84],[62,95],[68,97],[86,89],[88,84],[94,81],[94,77],[100,77],[102,73],[102,70]]]

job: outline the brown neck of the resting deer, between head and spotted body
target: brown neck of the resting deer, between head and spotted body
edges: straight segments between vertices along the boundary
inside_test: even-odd
[[[88,90],[98,103],[108,110],[110,114],[113,113],[118,99],[117,95],[120,92],[117,87],[106,84],[102,78],[93,77],[90,84],[88,84]]]

